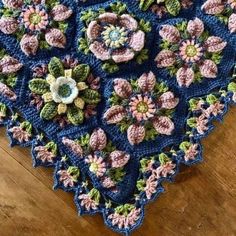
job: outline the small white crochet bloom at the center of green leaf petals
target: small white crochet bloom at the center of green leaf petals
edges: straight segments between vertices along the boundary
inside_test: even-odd
[[[50,85],[52,99],[56,103],[71,104],[77,98],[79,90],[75,80],[59,77]]]

